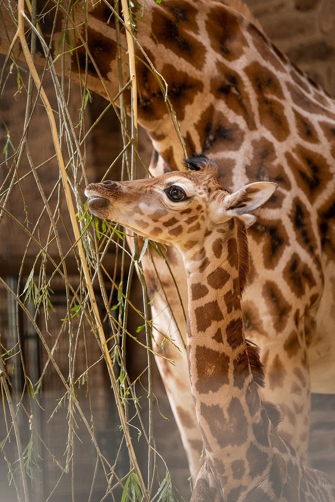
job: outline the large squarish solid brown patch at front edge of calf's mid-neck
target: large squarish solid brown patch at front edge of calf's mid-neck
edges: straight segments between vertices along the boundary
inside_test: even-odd
[[[194,387],[199,394],[217,392],[223,385],[229,384],[230,357],[225,352],[197,345],[195,360],[197,380]]]

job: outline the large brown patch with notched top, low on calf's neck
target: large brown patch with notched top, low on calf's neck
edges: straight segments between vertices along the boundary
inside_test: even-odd
[[[241,446],[248,438],[248,422],[242,404],[237,398],[232,398],[226,412],[228,418],[220,406],[200,403],[201,417],[207,422],[218,445],[221,448]],[[222,429],[226,434],[222,434]]]

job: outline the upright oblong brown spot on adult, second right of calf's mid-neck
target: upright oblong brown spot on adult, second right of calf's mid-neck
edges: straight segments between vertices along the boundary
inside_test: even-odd
[[[263,297],[272,317],[273,327],[281,333],[285,329],[292,306],[285,300],[277,284],[273,281],[265,282]]]

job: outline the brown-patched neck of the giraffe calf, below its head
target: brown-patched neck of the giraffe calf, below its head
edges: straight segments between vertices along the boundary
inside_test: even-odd
[[[244,225],[231,220],[209,233],[202,248],[183,253],[191,391],[206,462],[220,490],[225,490],[225,500],[236,500],[236,490],[250,486],[258,470],[254,462],[259,461],[259,442],[269,446],[271,429],[243,331],[240,288],[248,249],[241,237],[245,238]],[[235,498],[229,497],[231,490]]]

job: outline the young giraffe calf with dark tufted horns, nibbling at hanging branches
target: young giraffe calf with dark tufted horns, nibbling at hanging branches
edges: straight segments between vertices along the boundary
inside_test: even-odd
[[[189,172],[90,184],[88,207],[134,232],[173,245],[187,273],[187,361],[205,458],[192,502],[333,502],[327,476],[302,465],[259,397],[263,369],[244,334],[241,295],[249,270],[246,228],[274,183],[223,189],[199,155]]]

